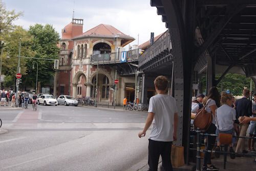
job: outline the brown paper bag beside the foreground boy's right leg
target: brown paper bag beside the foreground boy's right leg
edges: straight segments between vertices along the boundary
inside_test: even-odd
[[[173,167],[183,166],[184,163],[184,148],[183,146],[172,145],[172,154],[170,156]]]

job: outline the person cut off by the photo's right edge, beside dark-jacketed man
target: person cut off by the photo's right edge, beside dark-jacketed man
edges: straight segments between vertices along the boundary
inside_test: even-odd
[[[252,101],[252,117],[256,117],[256,93],[253,94]],[[250,125],[248,127],[250,138],[256,137],[256,121],[250,121]],[[254,149],[255,139],[248,139],[248,151],[255,152]]]

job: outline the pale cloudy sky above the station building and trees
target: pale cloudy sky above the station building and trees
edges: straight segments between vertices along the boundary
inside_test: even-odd
[[[1,0],[0,0],[1,1]],[[157,8],[150,6],[150,0],[2,0],[7,10],[23,12],[15,25],[29,29],[29,26],[39,23],[50,24],[59,33],[61,29],[74,18],[83,19],[83,32],[101,23],[112,25],[122,33],[134,37],[131,45],[144,43],[150,39],[150,33],[155,36],[165,32],[165,23]],[[127,48],[127,47],[126,47]]]

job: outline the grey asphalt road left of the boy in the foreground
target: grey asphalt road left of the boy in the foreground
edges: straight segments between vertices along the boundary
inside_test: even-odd
[[[0,110],[0,170],[138,170],[147,113],[73,106]]]

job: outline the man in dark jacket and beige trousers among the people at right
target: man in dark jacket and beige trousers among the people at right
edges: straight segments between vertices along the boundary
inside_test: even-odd
[[[248,100],[250,96],[250,91],[248,89],[243,90],[243,97],[242,99],[239,99],[236,101],[236,115],[237,119],[239,120],[240,117],[248,116],[250,117],[252,115],[251,109],[252,109],[252,103],[250,100]],[[246,131],[248,129],[249,124],[240,124],[240,137],[246,136]],[[244,138],[239,138],[237,147],[236,147],[236,153],[247,153],[248,151],[245,150],[245,140]],[[241,157],[242,155],[237,154],[237,157]]]

